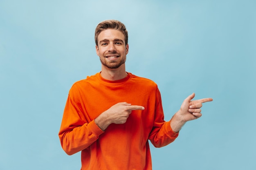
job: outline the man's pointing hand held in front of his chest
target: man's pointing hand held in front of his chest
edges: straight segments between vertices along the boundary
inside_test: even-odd
[[[132,110],[144,110],[143,106],[131,105],[126,102],[121,102],[113,105],[105,112],[101,113],[99,117],[94,119],[95,123],[101,130],[106,130],[106,128],[114,124],[124,124],[128,119]]]

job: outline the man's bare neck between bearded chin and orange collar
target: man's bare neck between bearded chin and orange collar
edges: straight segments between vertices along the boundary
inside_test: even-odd
[[[104,79],[115,81],[119,79],[123,79],[127,76],[125,65],[122,64],[119,68],[110,69],[106,66],[101,66],[101,77]]]

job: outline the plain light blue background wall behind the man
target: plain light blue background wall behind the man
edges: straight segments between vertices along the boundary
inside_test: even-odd
[[[74,82],[101,69],[94,29],[128,29],[128,72],[155,81],[165,119],[212,97],[154,170],[256,169],[256,1],[0,0],[0,170],[79,170],[58,139]],[[143,96],[141,96],[143,97]]]

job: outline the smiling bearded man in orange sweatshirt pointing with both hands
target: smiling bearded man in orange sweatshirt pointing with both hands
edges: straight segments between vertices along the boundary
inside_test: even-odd
[[[95,30],[101,72],[70,89],[59,137],[68,155],[81,152],[81,170],[152,170],[148,140],[155,147],[173,142],[186,121],[201,117],[202,103],[189,95],[164,121],[157,85],[126,72],[128,32],[117,20]]]

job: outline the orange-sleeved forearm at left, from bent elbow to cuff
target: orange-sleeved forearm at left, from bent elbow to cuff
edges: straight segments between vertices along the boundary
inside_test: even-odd
[[[60,132],[61,146],[67,155],[84,150],[99,138],[103,131],[94,123],[86,123],[67,132]]]

